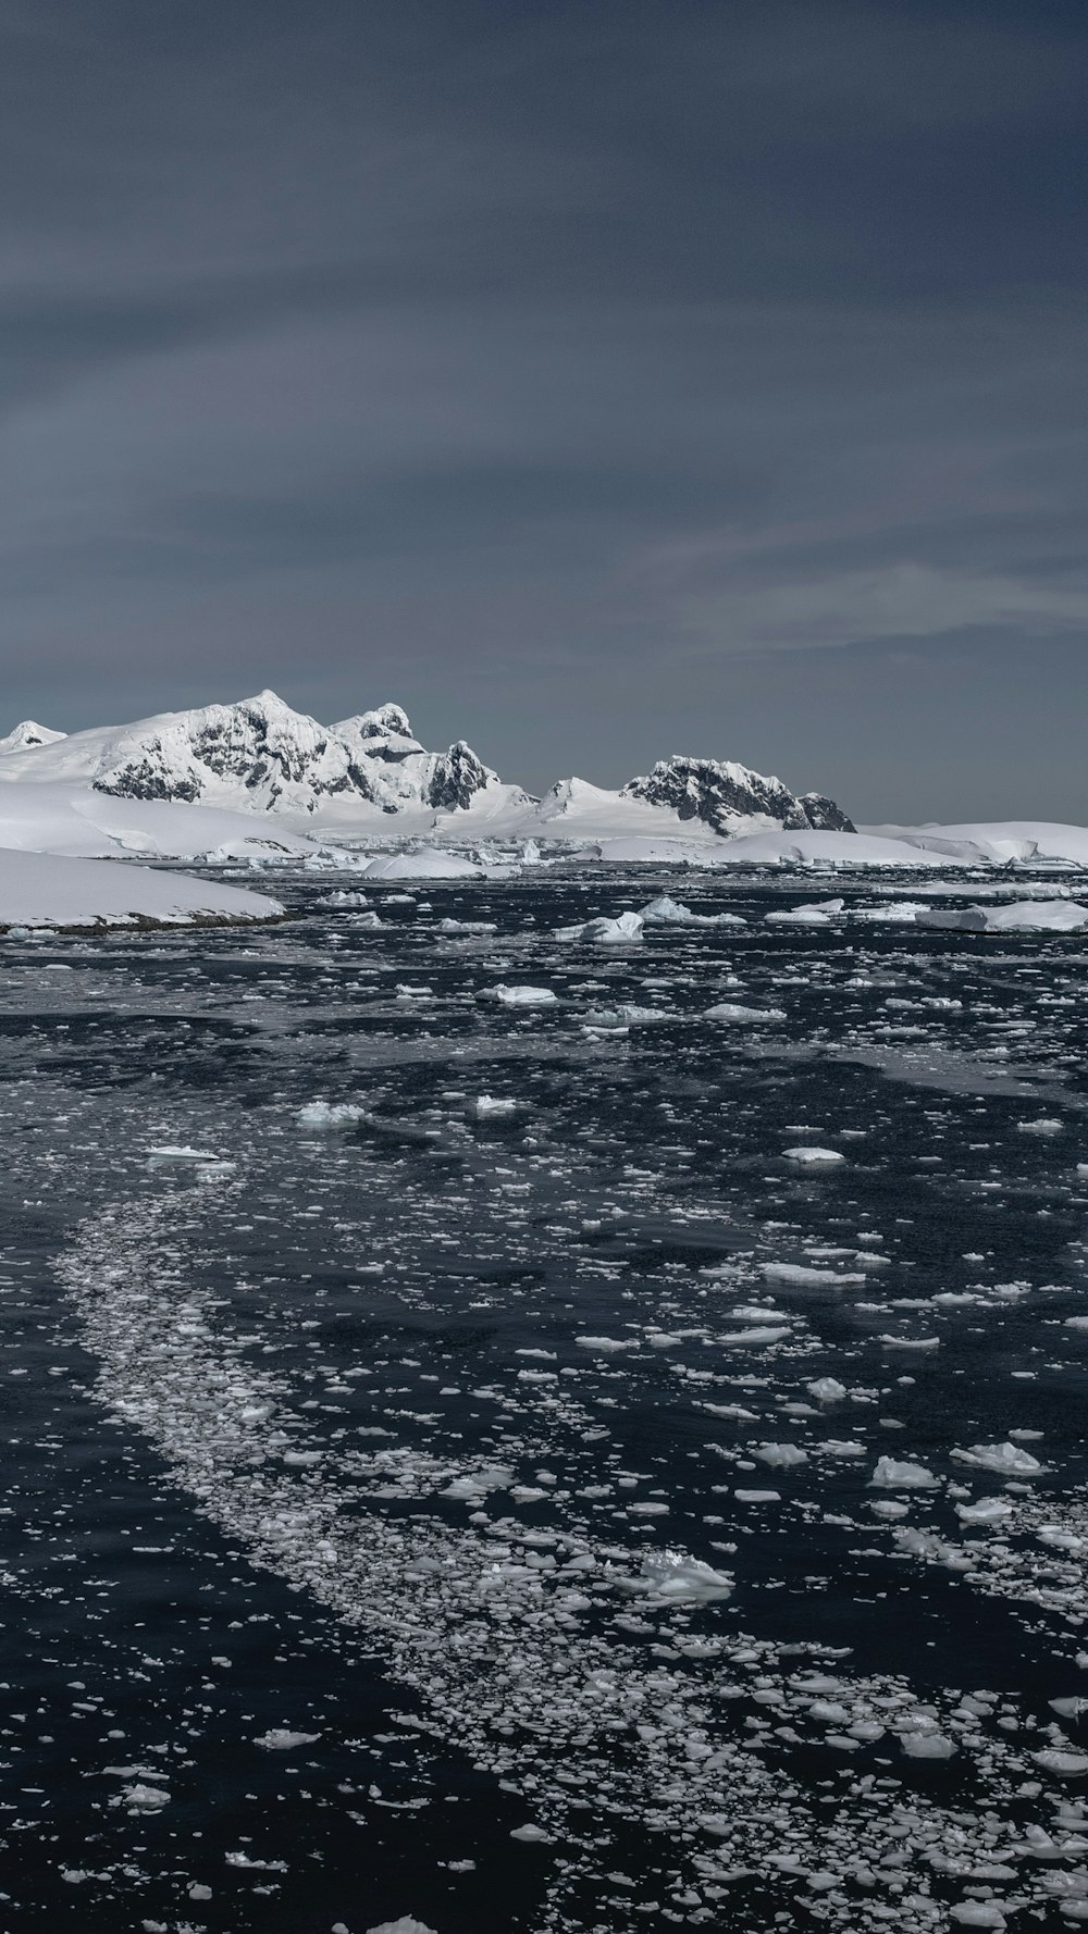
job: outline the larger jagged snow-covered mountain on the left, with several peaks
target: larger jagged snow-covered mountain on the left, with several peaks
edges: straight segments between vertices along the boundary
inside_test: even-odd
[[[530,805],[529,793],[503,785],[463,739],[447,752],[428,752],[401,706],[319,725],[275,692],[68,739],[17,725],[0,741],[0,779],[68,781],[116,799],[287,814],[316,814],[327,805],[381,814],[459,812],[478,797]]]

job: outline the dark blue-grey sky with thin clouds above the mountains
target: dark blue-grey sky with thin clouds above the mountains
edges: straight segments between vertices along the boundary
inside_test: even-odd
[[[2,0],[0,729],[1088,818],[1082,0]]]

